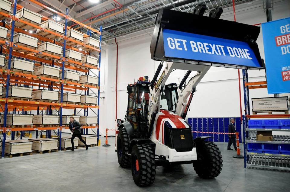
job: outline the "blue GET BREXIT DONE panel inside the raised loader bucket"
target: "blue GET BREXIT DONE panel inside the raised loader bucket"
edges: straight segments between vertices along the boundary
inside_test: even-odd
[[[261,67],[253,50],[242,41],[163,29],[166,57]]]

